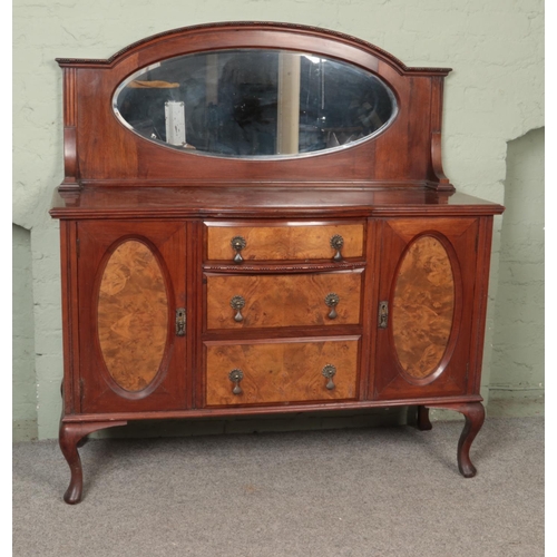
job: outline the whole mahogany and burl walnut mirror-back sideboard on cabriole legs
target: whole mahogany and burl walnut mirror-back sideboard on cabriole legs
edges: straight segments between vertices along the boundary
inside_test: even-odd
[[[131,420],[418,407],[483,422],[494,215],[441,165],[443,79],[286,23],[63,69],[60,447]]]

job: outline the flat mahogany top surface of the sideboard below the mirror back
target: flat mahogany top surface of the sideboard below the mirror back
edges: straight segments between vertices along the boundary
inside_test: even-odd
[[[392,214],[481,215],[500,214],[504,207],[461,193],[427,188],[370,188],[275,185],[88,187],[79,193],[56,193],[50,214],[55,218],[110,217],[222,217],[226,215],[273,218],[389,216]]]

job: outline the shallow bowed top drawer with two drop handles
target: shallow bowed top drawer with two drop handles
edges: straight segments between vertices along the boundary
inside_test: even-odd
[[[205,223],[205,260],[332,260],[363,256],[364,224]],[[340,255],[339,255],[340,254]]]

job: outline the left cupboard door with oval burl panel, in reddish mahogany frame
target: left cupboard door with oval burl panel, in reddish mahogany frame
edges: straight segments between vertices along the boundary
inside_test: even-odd
[[[186,226],[78,224],[81,412],[186,407]]]

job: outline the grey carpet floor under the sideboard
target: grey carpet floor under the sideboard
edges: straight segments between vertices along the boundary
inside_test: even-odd
[[[461,422],[13,446],[13,556],[537,557],[544,419],[488,419],[463,479]]]

